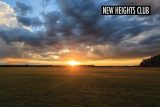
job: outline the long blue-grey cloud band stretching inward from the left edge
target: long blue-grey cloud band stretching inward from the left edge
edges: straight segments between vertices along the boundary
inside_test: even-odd
[[[43,31],[32,32],[23,27],[10,28],[7,26],[0,26],[0,39],[5,40],[8,44],[22,42],[37,48],[44,48],[46,45],[59,45],[62,41],[56,36],[50,37],[46,35],[46,32]]]

